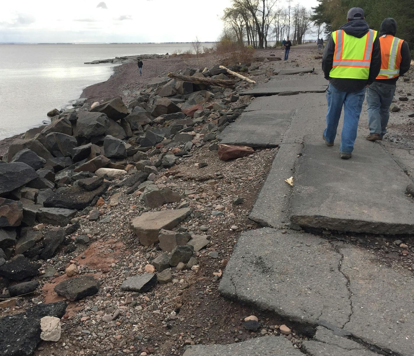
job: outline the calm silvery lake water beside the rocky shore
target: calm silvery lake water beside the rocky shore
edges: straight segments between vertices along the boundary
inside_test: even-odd
[[[0,44],[0,140],[39,126],[49,110],[67,106],[112,74],[112,64],[84,62],[177,49],[185,52],[191,44]]]

